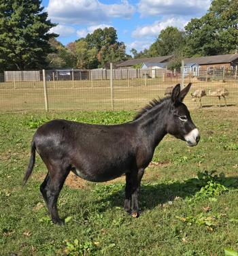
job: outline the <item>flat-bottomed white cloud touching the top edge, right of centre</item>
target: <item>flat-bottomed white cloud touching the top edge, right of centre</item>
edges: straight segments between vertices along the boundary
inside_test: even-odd
[[[211,0],[140,0],[138,11],[141,16],[156,15],[201,15],[207,11]]]

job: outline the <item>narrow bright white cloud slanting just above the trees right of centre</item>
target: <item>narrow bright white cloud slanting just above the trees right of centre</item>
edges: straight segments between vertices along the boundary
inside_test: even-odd
[[[160,20],[154,22],[152,25],[143,27],[137,27],[132,32],[132,36],[135,38],[139,37],[157,37],[161,30],[166,29],[168,26],[177,27],[179,29],[184,28],[188,20],[183,18],[168,18],[167,20]]]

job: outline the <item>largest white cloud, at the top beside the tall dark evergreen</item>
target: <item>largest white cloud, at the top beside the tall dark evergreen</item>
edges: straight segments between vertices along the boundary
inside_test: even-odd
[[[53,22],[95,24],[110,18],[131,18],[135,7],[127,0],[103,4],[98,0],[50,0],[46,11]]]

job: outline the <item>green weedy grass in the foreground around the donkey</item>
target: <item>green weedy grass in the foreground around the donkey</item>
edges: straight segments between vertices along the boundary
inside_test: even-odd
[[[124,178],[65,186],[58,199],[63,227],[48,218],[39,185],[46,167],[37,156],[22,188],[30,142],[52,118],[122,123],[134,112],[0,114],[1,255],[224,255],[238,251],[237,110],[192,111],[201,142],[188,148],[167,135],[143,177],[141,217],[123,210]],[[213,173],[213,171],[216,171]]]

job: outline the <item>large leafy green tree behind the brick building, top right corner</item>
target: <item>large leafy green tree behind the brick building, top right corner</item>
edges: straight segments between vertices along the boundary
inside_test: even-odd
[[[238,46],[238,1],[214,0],[207,14],[194,18],[185,27],[185,53],[216,55],[235,52]]]

